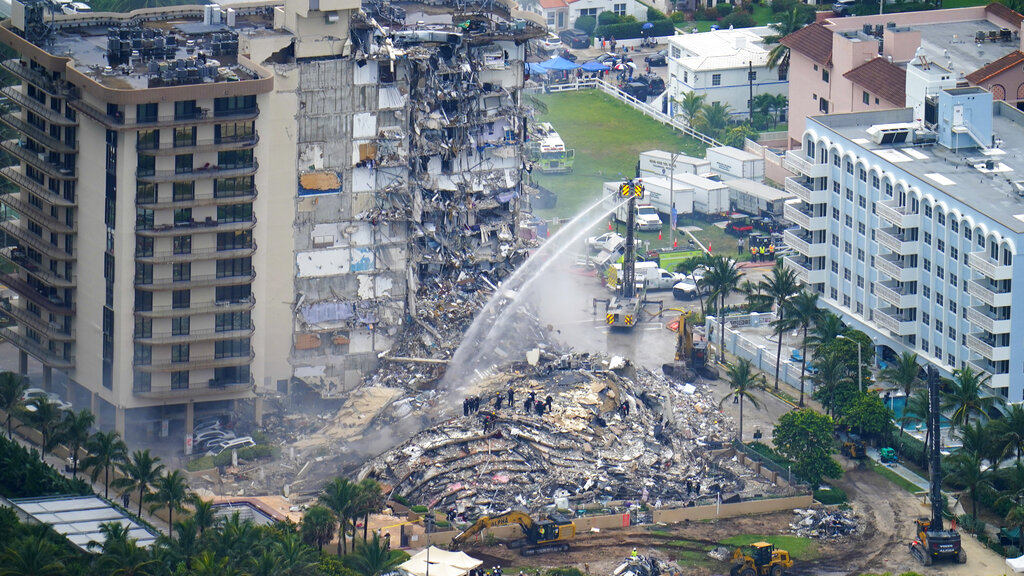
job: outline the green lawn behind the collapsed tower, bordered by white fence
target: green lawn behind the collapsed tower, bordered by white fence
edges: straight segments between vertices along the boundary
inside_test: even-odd
[[[570,174],[534,171],[538,183],[558,195],[554,209],[537,211],[542,218],[577,215],[600,198],[605,181],[632,177],[641,152],[679,151],[703,158],[707,147],[700,142],[596,90],[546,94],[540,98],[548,107],[548,113],[539,120],[551,122],[565,147],[575,151]],[[641,237],[657,240],[656,233]]]

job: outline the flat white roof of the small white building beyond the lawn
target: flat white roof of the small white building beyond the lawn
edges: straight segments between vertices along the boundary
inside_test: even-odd
[[[764,37],[774,34],[768,27],[713,30],[673,36],[669,42],[682,50],[679,64],[690,70],[727,70],[746,68],[750,63],[762,67],[769,49]]]

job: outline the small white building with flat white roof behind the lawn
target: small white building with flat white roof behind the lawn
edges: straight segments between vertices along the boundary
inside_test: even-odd
[[[788,94],[784,71],[768,70],[767,27],[715,30],[669,39],[668,89],[673,106],[686,92],[722,102],[737,117],[750,114],[751,94]],[[678,114],[678,108],[675,110]]]

